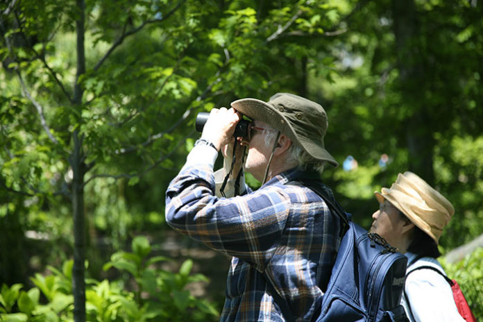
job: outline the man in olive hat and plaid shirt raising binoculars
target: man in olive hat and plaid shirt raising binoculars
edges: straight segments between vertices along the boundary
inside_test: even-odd
[[[311,321],[340,243],[337,215],[300,184],[315,180],[332,196],[318,179],[326,163],[337,166],[323,142],[327,115],[318,103],[287,93],[231,106],[210,112],[201,139],[171,181],[167,223],[232,256],[221,321]],[[241,142],[248,153],[244,164],[237,158],[235,169],[243,166],[262,187],[251,191],[243,185],[242,195],[219,198],[214,160],[230,145],[242,115],[251,124],[235,148],[241,151]]]

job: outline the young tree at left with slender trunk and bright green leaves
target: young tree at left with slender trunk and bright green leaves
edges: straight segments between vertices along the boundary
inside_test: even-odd
[[[54,216],[71,212],[76,321],[85,320],[87,184],[133,186],[179,164],[193,111],[287,84],[305,91],[310,39],[331,10],[312,1],[3,3],[2,187]]]

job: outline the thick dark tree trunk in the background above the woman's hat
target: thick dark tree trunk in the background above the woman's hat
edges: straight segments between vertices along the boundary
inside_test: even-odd
[[[425,102],[423,46],[414,0],[393,0],[393,28],[396,36],[399,84],[403,103],[412,110],[405,122],[409,170],[434,184],[434,137],[431,107]]]

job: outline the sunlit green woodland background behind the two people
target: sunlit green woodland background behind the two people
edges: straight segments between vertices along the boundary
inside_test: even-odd
[[[407,170],[452,202],[441,262],[483,319],[482,7],[1,1],[0,318],[217,321],[230,259],[167,227],[164,192],[198,112],[292,92],[328,112],[357,223]]]

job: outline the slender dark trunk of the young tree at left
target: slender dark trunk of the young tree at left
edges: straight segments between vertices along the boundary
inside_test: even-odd
[[[74,84],[74,107],[82,107],[83,90],[78,83],[79,77],[85,73],[85,1],[76,0],[78,19],[77,29],[77,73]],[[85,322],[85,213],[84,213],[84,176],[85,163],[83,155],[83,139],[77,124],[72,133],[73,150],[69,155],[72,168],[72,212],[74,217],[74,267],[72,268],[72,293],[74,295],[74,321]]]

